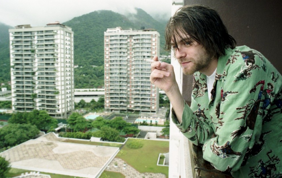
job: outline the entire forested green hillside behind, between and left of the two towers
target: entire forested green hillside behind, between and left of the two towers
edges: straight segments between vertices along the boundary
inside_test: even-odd
[[[107,28],[156,29],[160,33],[161,54],[167,54],[163,50],[163,46],[164,27],[168,19],[160,22],[153,19],[142,9],[136,9],[136,11],[136,14],[127,14],[125,16],[113,11],[100,10],[62,23],[71,27],[74,31],[74,63],[79,66],[75,68],[75,88],[103,87],[103,39],[104,31]],[[0,82],[10,80],[9,28],[12,27],[0,26]]]

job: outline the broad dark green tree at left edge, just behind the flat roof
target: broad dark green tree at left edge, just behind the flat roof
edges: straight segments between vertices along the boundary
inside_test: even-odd
[[[39,129],[31,124],[8,124],[0,129],[0,148],[21,144],[38,135]]]

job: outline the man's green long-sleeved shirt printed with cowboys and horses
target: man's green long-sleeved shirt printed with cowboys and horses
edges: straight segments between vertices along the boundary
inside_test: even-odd
[[[226,49],[209,101],[206,76],[194,73],[191,107],[173,122],[203,159],[233,177],[282,177],[282,77],[258,51]],[[215,137],[211,137],[212,135]]]

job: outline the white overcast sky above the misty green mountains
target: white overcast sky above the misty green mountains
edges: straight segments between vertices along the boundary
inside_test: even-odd
[[[45,26],[59,21],[64,23],[74,17],[97,11],[111,10],[117,13],[134,13],[134,7],[146,11],[152,17],[171,16],[173,0],[0,0],[0,22],[15,27],[30,24]]]

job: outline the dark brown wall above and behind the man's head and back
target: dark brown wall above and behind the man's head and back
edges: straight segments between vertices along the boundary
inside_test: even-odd
[[[281,0],[184,0],[204,4],[220,14],[237,45],[260,51],[282,74]]]

